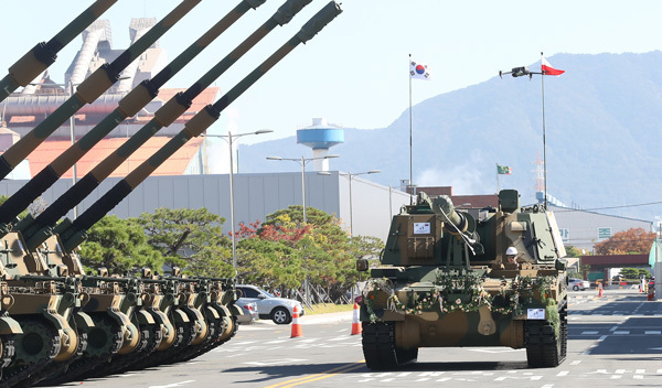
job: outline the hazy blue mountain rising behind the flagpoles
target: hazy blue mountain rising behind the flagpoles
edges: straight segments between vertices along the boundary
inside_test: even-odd
[[[551,62],[566,73],[544,79],[548,193],[573,207],[649,220],[662,215],[662,52],[557,54]],[[530,68],[540,71],[540,62]],[[413,128],[416,184],[493,193],[499,163],[513,169],[500,175],[501,187],[535,202],[535,161],[544,154],[540,75],[495,76],[429,98],[413,108]],[[311,151],[291,137],[241,146],[239,153],[242,172],[265,172],[298,169],[267,155]],[[409,177],[408,109],[387,128],[345,128],[345,142],[331,153],[342,155],[330,161],[332,170],[380,169],[372,181],[398,185]]]

